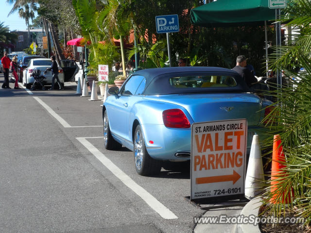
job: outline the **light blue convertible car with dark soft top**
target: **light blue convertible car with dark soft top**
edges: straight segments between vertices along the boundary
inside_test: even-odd
[[[246,118],[248,150],[271,102],[251,93],[238,73],[219,67],[144,69],[103,104],[104,146],[134,151],[138,174],[151,175],[161,161],[190,160],[191,124]],[[260,136],[260,133],[259,133]]]

